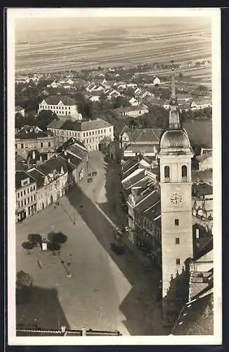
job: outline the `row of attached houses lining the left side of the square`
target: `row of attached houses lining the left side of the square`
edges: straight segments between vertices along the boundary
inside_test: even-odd
[[[86,147],[74,141],[45,163],[15,173],[15,215],[20,222],[64,196],[84,177],[88,161]]]

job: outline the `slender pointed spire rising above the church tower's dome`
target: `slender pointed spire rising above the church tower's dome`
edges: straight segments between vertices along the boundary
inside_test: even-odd
[[[175,74],[174,74],[174,60],[171,60],[171,97],[170,97],[170,108],[169,108],[169,129],[170,130],[180,130],[180,118],[177,108],[176,99],[176,87],[175,87]]]

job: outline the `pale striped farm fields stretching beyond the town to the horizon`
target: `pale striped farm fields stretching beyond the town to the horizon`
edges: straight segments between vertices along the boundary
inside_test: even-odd
[[[58,37],[59,35],[59,37]],[[42,38],[42,39],[41,39]],[[83,37],[67,32],[33,38],[29,44],[15,46],[16,73],[55,72],[81,68],[129,66],[139,63],[191,61],[211,57],[210,30],[174,30],[154,34],[123,34],[113,30],[112,36],[97,32]],[[192,73],[191,73],[192,74]],[[193,73],[194,74],[194,73]],[[195,77],[206,79],[209,70],[197,68]]]

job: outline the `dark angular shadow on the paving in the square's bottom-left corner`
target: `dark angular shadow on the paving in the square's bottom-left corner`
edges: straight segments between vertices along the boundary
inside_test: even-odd
[[[27,287],[27,295],[30,299],[25,300],[23,304],[16,305],[17,327],[26,329],[35,323],[42,329],[60,329],[61,326],[70,328],[60,306],[56,289]]]

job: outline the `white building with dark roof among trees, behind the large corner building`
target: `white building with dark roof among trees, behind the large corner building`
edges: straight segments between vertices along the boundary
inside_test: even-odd
[[[82,119],[81,113],[78,113],[77,102],[70,96],[48,96],[39,103],[39,112],[42,110],[53,111],[60,118]]]

